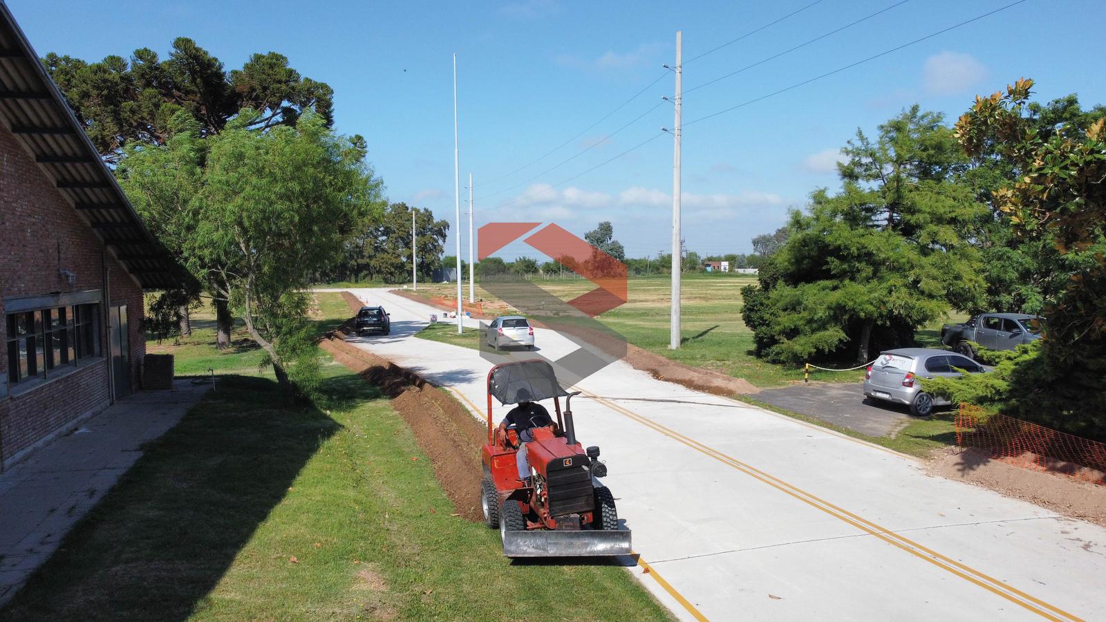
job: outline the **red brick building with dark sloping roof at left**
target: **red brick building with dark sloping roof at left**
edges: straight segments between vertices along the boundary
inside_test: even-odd
[[[149,234],[0,2],[0,468],[142,385]]]

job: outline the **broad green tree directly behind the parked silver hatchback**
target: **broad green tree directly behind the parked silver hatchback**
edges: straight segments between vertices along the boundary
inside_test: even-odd
[[[968,159],[938,113],[918,106],[862,131],[842,153],[842,190],[793,211],[787,241],[761,265],[744,312],[770,360],[846,356],[912,340],[951,305],[972,309],[983,289],[970,242],[988,208],[962,183]]]

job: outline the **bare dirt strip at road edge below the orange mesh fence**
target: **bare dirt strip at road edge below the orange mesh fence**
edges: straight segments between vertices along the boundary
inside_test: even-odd
[[[1071,518],[1106,527],[1106,486],[1031,470],[977,449],[949,448],[927,464],[933,475],[990,488]]]

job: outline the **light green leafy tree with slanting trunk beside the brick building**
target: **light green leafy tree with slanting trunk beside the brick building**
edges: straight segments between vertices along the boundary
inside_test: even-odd
[[[380,183],[364,149],[320,115],[268,132],[261,115],[243,110],[202,138],[178,112],[166,143],[135,148],[117,173],[155,232],[230,301],[281,385],[310,392],[319,377],[304,319],[310,276],[380,216]]]

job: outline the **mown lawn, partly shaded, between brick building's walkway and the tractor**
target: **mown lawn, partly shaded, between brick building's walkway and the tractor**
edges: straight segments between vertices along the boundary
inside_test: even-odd
[[[320,294],[320,329],[348,311]],[[622,568],[511,564],[451,516],[379,390],[326,357],[322,396],[280,398],[257,350],[216,353],[198,318],[178,370],[218,390],[146,447],[0,612],[56,619],[664,619]],[[523,587],[523,588],[520,588]]]

